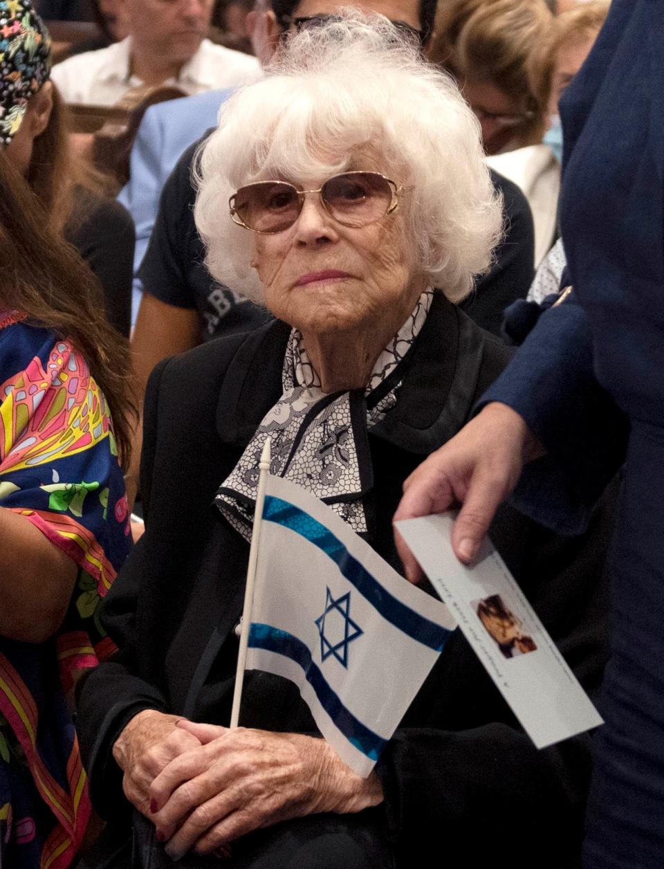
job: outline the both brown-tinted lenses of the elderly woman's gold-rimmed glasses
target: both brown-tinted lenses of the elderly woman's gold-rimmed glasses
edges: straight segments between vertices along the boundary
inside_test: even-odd
[[[384,217],[394,193],[388,180],[378,173],[349,172],[329,178],[320,195],[325,209],[336,221],[360,227]],[[233,208],[249,229],[275,233],[295,223],[303,201],[302,191],[292,184],[263,181],[241,187]]]

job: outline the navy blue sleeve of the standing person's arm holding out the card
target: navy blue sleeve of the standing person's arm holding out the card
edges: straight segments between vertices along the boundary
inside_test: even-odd
[[[562,534],[579,534],[625,459],[627,418],[594,376],[588,317],[568,301],[545,311],[478,409],[501,401],[548,454],[521,475],[513,502]]]

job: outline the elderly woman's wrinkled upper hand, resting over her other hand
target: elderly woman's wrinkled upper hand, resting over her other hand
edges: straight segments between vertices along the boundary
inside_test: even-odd
[[[185,720],[178,729],[205,744],[172,760],[150,788],[157,838],[169,839],[171,859],[192,848],[219,851],[278,821],[360,812],[382,802],[375,773],[362,779],[325,740]]]

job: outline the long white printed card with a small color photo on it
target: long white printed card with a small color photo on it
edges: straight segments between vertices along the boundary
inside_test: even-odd
[[[397,522],[422,570],[535,746],[602,723],[501,556],[485,541],[471,567],[450,542],[450,513]]]

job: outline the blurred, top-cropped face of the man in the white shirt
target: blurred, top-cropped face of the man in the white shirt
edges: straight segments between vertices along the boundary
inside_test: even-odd
[[[213,0],[123,0],[136,46],[165,63],[186,63],[207,36]]]

